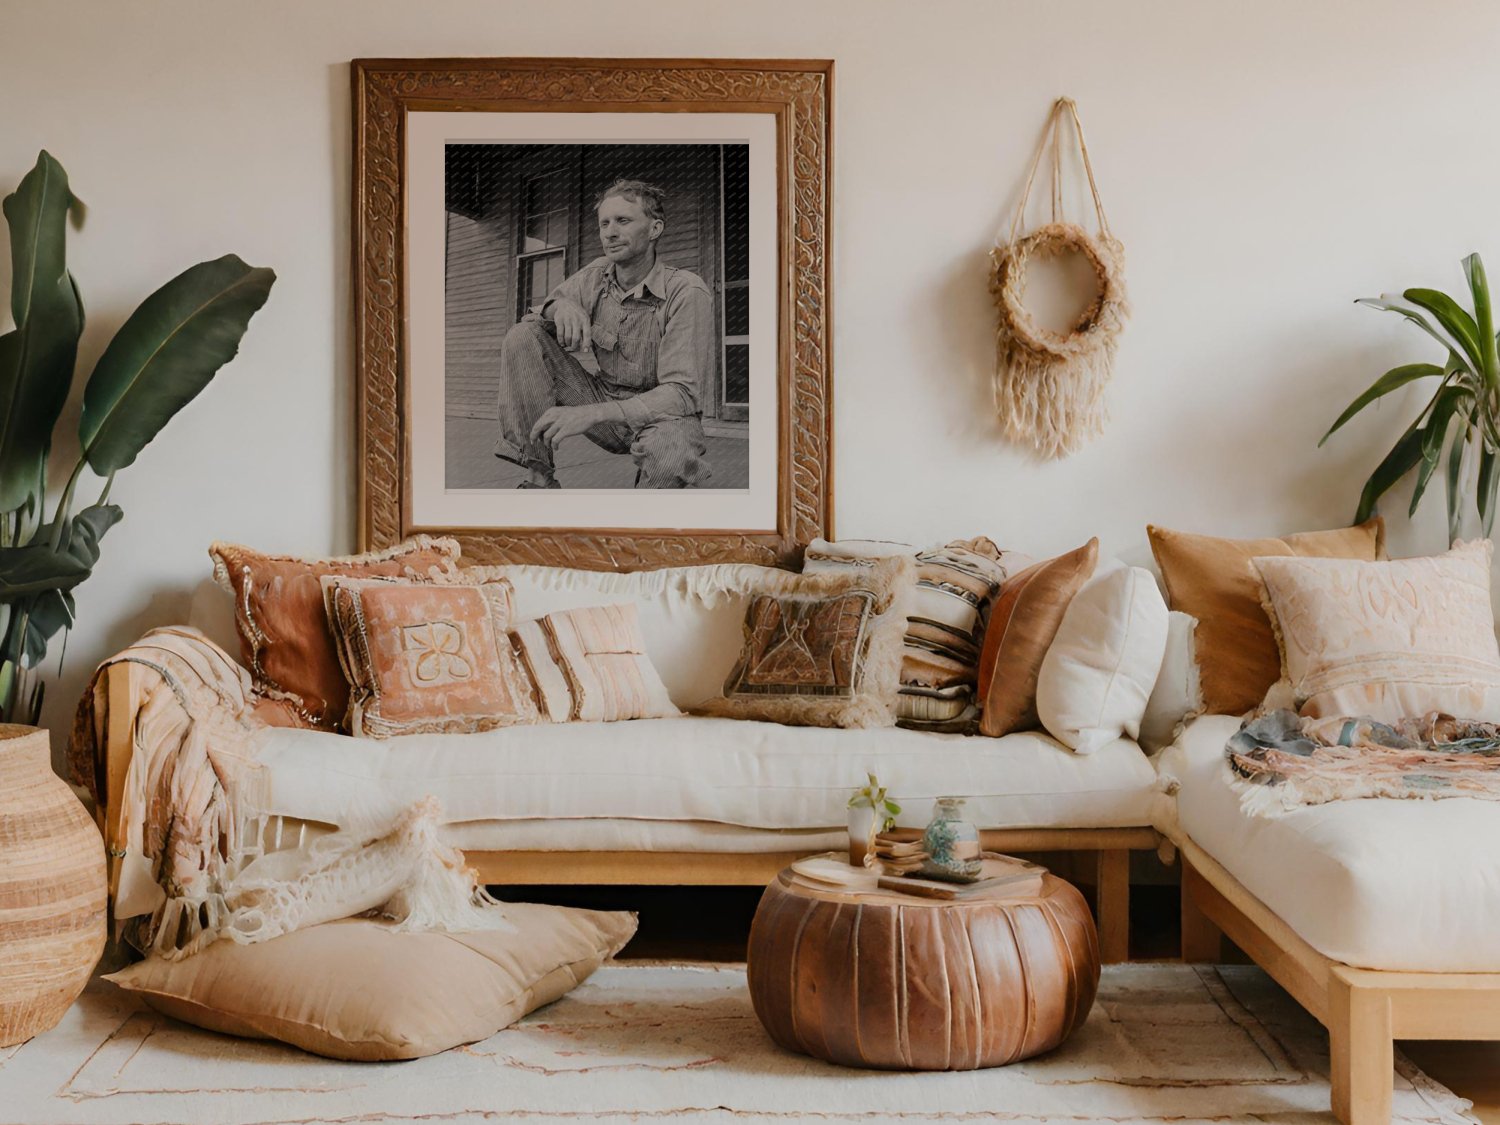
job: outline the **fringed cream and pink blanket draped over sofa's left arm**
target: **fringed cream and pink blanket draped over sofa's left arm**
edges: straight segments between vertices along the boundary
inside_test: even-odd
[[[118,826],[105,842],[118,864],[117,932],[138,950],[178,958],[219,938],[260,942],[369,910],[398,928],[507,926],[462,854],[438,840],[436,800],[390,824],[338,825],[278,849],[279,831],[261,812],[255,734],[264,724],[249,675],[195,628],[153,630],[94,672],[68,762],[100,806],[110,796],[104,672],[118,663],[150,669],[130,716]]]

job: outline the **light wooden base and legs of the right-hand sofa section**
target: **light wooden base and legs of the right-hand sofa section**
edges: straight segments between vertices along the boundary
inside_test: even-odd
[[[1395,1040],[1500,1040],[1500,974],[1330,960],[1196,843],[1178,848],[1182,960],[1220,962],[1228,938],[1328,1028],[1334,1116],[1344,1125],[1389,1125]]]

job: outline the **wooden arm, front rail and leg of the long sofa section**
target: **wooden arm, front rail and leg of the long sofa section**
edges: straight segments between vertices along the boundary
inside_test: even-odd
[[[142,698],[142,664],[122,662],[105,669],[105,792],[98,810],[110,850],[110,900],[118,886],[120,795],[135,752],[135,716]],[[915,837],[915,832],[912,834]],[[981,832],[996,852],[1094,852],[1100,957],[1130,957],[1130,854],[1155,850],[1154,828],[1006,828]],[[765,886],[810,850],[788,852],[466,852],[465,860],[490,885],[538,886],[609,884],[634,886]]]

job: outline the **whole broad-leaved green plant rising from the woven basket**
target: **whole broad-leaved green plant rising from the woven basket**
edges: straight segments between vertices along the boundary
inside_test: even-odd
[[[141,302],[84,384],[78,460],[48,513],[48,458],[84,328],[66,262],[68,220],[78,220],[82,207],[63,166],[44,152],[3,210],[15,327],[0,336],[0,722],[34,724],[45,684],[33,669],[74,624],[74,590],[124,514],[110,502],[114,474],[234,357],[276,274],[231,254],[184,270]],[[104,488],[75,512],[84,468]]]

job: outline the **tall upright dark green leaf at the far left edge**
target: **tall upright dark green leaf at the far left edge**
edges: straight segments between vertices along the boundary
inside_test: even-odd
[[[52,426],[68,402],[82,302],[68,274],[68,172],[48,153],[4,198],[10,228],[10,314],[0,336],[0,512],[40,500]]]

